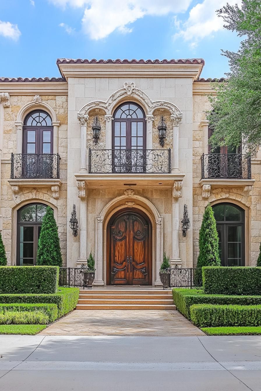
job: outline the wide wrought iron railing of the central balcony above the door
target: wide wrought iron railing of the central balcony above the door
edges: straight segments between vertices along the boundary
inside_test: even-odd
[[[170,172],[170,149],[89,149],[89,174]]]

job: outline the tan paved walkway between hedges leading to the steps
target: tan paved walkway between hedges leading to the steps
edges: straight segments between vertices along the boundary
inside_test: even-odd
[[[178,311],[76,310],[41,335],[201,336],[200,329]]]

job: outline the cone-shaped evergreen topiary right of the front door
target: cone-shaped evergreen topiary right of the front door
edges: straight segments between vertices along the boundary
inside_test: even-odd
[[[218,248],[218,231],[216,220],[211,205],[208,204],[203,214],[203,220],[199,233],[199,250],[197,268],[202,266],[221,266],[219,248]],[[197,278],[201,279],[201,271],[198,271]]]

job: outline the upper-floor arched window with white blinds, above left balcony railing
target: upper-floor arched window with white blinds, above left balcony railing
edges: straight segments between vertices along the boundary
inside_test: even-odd
[[[34,110],[25,118],[23,126],[23,153],[53,153],[52,119],[43,110]]]

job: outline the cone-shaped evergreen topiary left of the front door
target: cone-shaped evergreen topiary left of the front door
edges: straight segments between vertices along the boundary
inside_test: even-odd
[[[37,265],[61,266],[61,248],[54,211],[47,207],[38,240]]]

